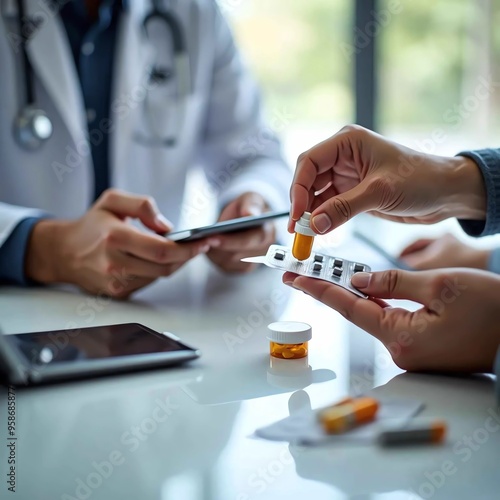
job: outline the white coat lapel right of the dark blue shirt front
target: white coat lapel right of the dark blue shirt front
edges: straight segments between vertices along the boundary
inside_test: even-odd
[[[133,136],[134,109],[143,105],[148,84],[148,68],[153,50],[147,43],[143,20],[151,8],[150,0],[133,0],[123,13],[115,48],[115,67],[111,100],[114,132],[110,141],[111,175],[114,184],[121,184],[127,164],[128,143]],[[114,113],[113,106],[123,113]],[[126,109],[128,108],[128,109]]]

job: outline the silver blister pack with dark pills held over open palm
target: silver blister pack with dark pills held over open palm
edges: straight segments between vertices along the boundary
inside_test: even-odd
[[[329,281],[360,297],[367,297],[351,285],[353,274],[371,271],[371,268],[366,264],[315,252],[312,252],[306,260],[297,260],[289,248],[281,245],[271,245],[266,255],[248,257],[241,260],[244,262],[265,264],[268,267],[280,269],[281,271],[290,271],[302,276]]]

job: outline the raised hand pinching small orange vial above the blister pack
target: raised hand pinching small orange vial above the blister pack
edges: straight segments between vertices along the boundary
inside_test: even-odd
[[[304,211],[320,234],[361,212],[412,224],[486,217],[484,181],[472,160],[419,153],[356,125],[299,157],[290,199],[291,232]]]

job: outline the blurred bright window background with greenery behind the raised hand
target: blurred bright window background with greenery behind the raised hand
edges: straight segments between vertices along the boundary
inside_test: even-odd
[[[493,29],[500,2],[219,4],[262,87],[270,125],[292,167],[298,154],[348,123],[429,153],[500,146],[500,32]],[[456,221],[403,228],[360,219],[357,228],[376,230],[393,252],[417,236],[446,231],[471,242]]]

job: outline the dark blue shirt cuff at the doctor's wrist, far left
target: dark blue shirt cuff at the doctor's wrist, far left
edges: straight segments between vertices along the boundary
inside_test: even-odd
[[[24,273],[24,260],[33,226],[40,220],[40,217],[22,220],[0,247],[0,283],[31,284]]]

